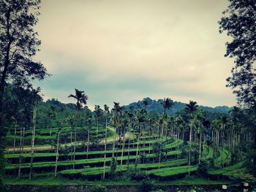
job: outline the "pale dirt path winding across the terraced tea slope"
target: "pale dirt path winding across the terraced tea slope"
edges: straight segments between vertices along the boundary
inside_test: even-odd
[[[115,131],[115,129],[113,128],[113,127],[108,127],[108,129],[111,131],[111,132],[113,132],[113,134],[114,134],[114,131]],[[128,139],[128,138],[130,138],[130,139],[132,139],[134,136],[133,136],[133,134],[132,133],[130,133],[130,132],[127,132],[127,134],[125,134],[125,138],[126,139]],[[118,140],[118,137],[116,136],[116,140]],[[113,142],[114,141],[114,136],[112,136],[112,137],[108,137],[107,138],[107,143],[108,142]],[[77,145],[82,145],[82,142],[76,142],[77,143]],[[105,143],[105,139],[102,139],[99,143]],[[75,144],[75,142],[69,142],[69,143],[66,143],[66,144],[61,144],[61,147],[65,147],[65,146],[72,146],[72,145],[74,145]],[[40,151],[40,150],[51,150],[52,149],[52,147],[50,146],[50,145],[41,145],[41,146],[35,146],[34,147],[34,150],[35,151]],[[15,147],[15,151],[18,151],[19,150],[19,147]],[[28,152],[28,151],[30,151],[31,150],[31,147],[29,146],[29,147],[24,147],[23,148],[23,151],[24,152]],[[12,152],[13,151],[13,147],[9,147],[9,148],[7,148],[7,152]]]

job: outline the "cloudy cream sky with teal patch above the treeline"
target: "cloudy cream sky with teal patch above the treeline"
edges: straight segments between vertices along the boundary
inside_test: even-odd
[[[52,74],[45,99],[68,103],[75,88],[88,105],[146,97],[233,106],[225,79],[225,34],[217,21],[227,0],[43,0],[36,59]]]

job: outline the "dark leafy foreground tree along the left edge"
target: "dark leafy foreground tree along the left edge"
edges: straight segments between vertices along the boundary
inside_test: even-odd
[[[43,80],[48,75],[33,58],[40,45],[34,31],[39,4],[40,0],[0,1],[0,174],[4,170],[4,88],[7,82],[29,85],[31,80]]]

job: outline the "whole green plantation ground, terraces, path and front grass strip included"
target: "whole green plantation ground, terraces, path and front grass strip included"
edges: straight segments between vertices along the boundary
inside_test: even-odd
[[[56,144],[50,146],[48,142],[37,140],[34,147],[39,148],[34,153],[31,153],[29,145],[20,146],[20,143],[16,142],[17,146],[13,146],[14,140],[20,139],[18,137],[20,133],[16,130],[16,137],[13,137],[15,130],[10,128],[8,139],[12,145],[5,154],[7,160],[5,182],[10,185],[26,185],[28,182],[35,185],[37,183],[48,185],[56,180],[59,185],[70,185],[70,183],[75,183],[75,185],[140,185],[141,181],[147,178],[154,185],[159,186],[163,183],[165,185],[191,185],[192,182],[194,185],[202,185],[202,183],[220,185],[229,182],[227,176],[246,173],[243,162],[229,165],[230,152],[225,147],[219,147],[217,153],[214,154],[215,146],[203,142],[200,161],[205,164],[211,160],[212,165],[206,165],[208,171],[202,172],[201,169],[204,167],[198,165],[198,153],[192,150],[193,158],[189,165],[186,143],[174,134],[159,139],[157,133],[150,135],[146,130],[138,133],[138,130],[130,129],[120,137],[115,134],[114,125],[107,128],[99,125],[98,131],[95,125],[90,128],[90,131],[86,126],[77,129],[77,135],[83,134],[85,138],[88,138],[88,135],[83,131],[91,134],[90,142],[86,143],[83,137],[78,137],[76,142],[70,142],[72,140],[70,132],[75,129],[70,126],[61,128],[59,134],[66,138],[59,141],[58,153]],[[51,130],[39,128],[36,134],[37,137],[49,137],[51,133],[52,142],[56,143],[58,142],[56,137],[58,130],[59,128]],[[96,132],[98,133],[97,142],[95,142]],[[24,140],[26,138],[31,139],[31,130],[25,131]],[[31,157],[33,157],[32,168]],[[113,164],[115,164],[114,171]],[[29,179],[30,174],[31,179]],[[206,178],[202,179],[199,174],[203,174]],[[216,179],[210,179],[213,177]],[[16,180],[15,183],[13,180]]]

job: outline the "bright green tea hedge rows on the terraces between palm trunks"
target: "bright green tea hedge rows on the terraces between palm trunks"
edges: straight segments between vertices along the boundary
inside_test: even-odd
[[[83,130],[82,128],[79,131]],[[52,129],[52,133],[55,133],[57,128]],[[64,132],[69,133],[70,128],[65,127],[63,128]],[[91,131],[92,137],[94,137],[95,126]],[[104,132],[104,127],[99,127],[99,136],[102,138],[101,134]],[[184,142],[180,139],[173,140],[171,137],[165,137],[163,139],[158,139],[158,137],[154,136],[146,136],[141,138],[140,141],[136,141],[135,136],[132,132],[127,132],[126,142],[119,141],[116,143],[116,150],[113,152],[113,128],[108,128],[108,143],[107,143],[107,150],[104,151],[104,143],[98,143],[98,148],[94,147],[94,150],[89,150],[87,153],[86,151],[78,150],[75,153],[75,161],[72,161],[72,156],[74,155],[72,152],[64,153],[59,152],[59,161],[57,166],[58,175],[62,178],[66,179],[73,179],[79,178],[82,180],[101,180],[102,174],[104,172],[104,161],[106,162],[105,166],[105,177],[109,177],[110,174],[110,162],[111,157],[114,155],[117,157],[117,167],[116,167],[116,174],[122,174],[127,172],[129,169],[140,169],[145,171],[152,179],[156,180],[170,180],[170,179],[177,179],[179,177],[184,177],[184,175],[191,172],[193,174],[197,171],[198,165],[187,165],[187,157],[181,154],[181,150],[176,150],[177,146],[181,149]],[[48,130],[37,130],[40,137],[46,137],[49,134]],[[29,131],[26,132],[27,137],[29,137]],[[11,138],[11,137],[10,137]],[[129,138],[129,143],[127,139]],[[116,138],[118,140],[118,138]],[[154,153],[154,143],[162,141],[164,143],[163,149],[166,151],[162,155],[162,161],[159,164],[159,154]],[[80,145],[81,142],[77,142],[76,145]],[[75,145],[75,143],[66,144],[66,147],[70,147]],[[124,146],[124,149],[122,147]],[[137,147],[138,146],[138,147]],[[61,145],[64,147],[64,145]],[[138,153],[138,155],[136,155]],[[106,158],[104,155],[106,154]],[[135,161],[140,160],[142,158],[140,155],[145,154],[143,164],[142,159],[140,163],[136,164]],[[221,164],[227,163],[228,160],[228,151],[226,149],[219,148],[219,156],[214,159],[214,165],[220,167]],[[222,154],[222,156],[221,156]],[[30,160],[31,160],[31,153],[23,153],[22,155],[22,163],[19,164],[20,154],[18,153],[9,153],[6,154],[5,157],[7,158],[7,174],[15,175],[18,174],[18,169],[20,168],[21,172],[23,173],[23,177],[29,174],[30,169]],[[207,145],[203,145],[203,152],[202,152],[202,159],[206,160],[208,158],[213,157],[213,149],[212,147],[208,147]],[[122,162],[122,165],[121,165]],[[128,164],[129,163],[129,166]],[[72,169],[73,164],[75,164],[75,169]],[[43,175],[52,174],[54,172],[56,166],[56,153],[49,150],[40,150],[39,153],[34,153],[34,164],[33,164],[33,171],[36,173],[37,177],[43,177]],[[228,170],[231,172],[232,167],[230,169],[223,169],[222,172],[212,170],[211,174],[222,174],[227,173]],[[239,170],[239,169],[238,169]]]

